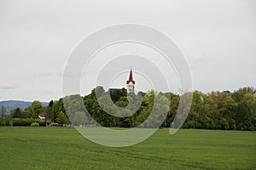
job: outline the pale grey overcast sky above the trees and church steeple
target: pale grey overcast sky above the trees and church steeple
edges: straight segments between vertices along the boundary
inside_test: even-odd
[[[150,26],[170,37],[189,65],[193,89],[208,93],[255,88],[255,8],[254,0],[0,0],[0,100],[59,99],[63,72],[79,42],[102,28],[123,23]],[[143,51],[133,45],[128,45],[131,51]],[[101,60],[104,53],[111,56],[108,52],[115,50],[124,52],[125,47],[118,44],[97,57]],[[154,54],[147,50],[144,55]],[[98,65],[97,73],[96,68],[89,66],[87,72],[85,68],[81,94],[90,93],[93,83],[86,83],[98,76],[102,80],[113,76],[108,77],[110,88],[125,87],[131,67],[137,90],[152,88],[142,71],[153,71],[154,63],[129,57]],[[115,74],[113,68],[119,72]],[[150,71],[149,76],[155,77]],[[177,92],[178,77],[171,72],[165,75],[172,77],[168,81]],[[166,91],[161,86],[156,89]]]

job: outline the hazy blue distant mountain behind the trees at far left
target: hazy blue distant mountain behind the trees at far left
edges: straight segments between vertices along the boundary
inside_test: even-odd
[[[32,102],[30,101],[20,101],[20,100],[5,100],[0,101],[0,107],[4,105],[6,107],[6,113],[9,115],[9,111],[12,109],[15,109],[17,107],[20,107],[21,109],[25,109],[26,107],[32,105]],[[46,106],[48,105],[47,102],[41,102],[41,105]]]

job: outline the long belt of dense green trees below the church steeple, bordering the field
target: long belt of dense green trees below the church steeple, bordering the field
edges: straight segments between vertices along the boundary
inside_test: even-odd
[[[183,123],[183,128],[256,130],[255,94],[255,89],[251,87],[240,88],[234,92],[217,91],[209,94],[194,91],[189,116]],[[34,101],[23,111],[16,108],[11,111],[10,116],[1,116],[1,124],[7,126],[12,122],[14,126],[25,126],[38,122],[44,126],[45,121],[49,120],[60,124],[72,122],[73,125],[87,125],[95,120],[104,127],[137,127],[150,118],[152,120],[146,122],[145,127],[154,127],[161,122],[163,123],[160,127],[171,127],[179,101],[178,94],[157,93],[151,90],[148,93],[127,95],[124,89],[105,92],[102,87],[96,87],[84,97],[73,95],[51,100],[45,107]],[[84,108],[93,119],[84,116]],[[71,113],[71,110],[74,112]],[[160,114],[150,116],[152,111]],[[164,112],[167,115],[163,117],[161,113]],[[45,120],[42,122],[38,116],[45,116]]]

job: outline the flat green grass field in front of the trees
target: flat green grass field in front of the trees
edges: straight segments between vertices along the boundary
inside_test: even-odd
[[[0,127],[1,169],[256,169],[256,132],[160,129],[109,148],[73,127]]]

